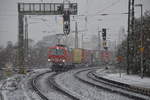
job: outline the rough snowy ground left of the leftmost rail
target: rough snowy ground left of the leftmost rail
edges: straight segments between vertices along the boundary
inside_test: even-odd
[[[48,69],[36,69],[27,75],[13,75],[0,81],[0,90],[4,100],[40,100],[39,96],[27,86],[29,79]],[[0,97],[1,100],[1,97]]]

